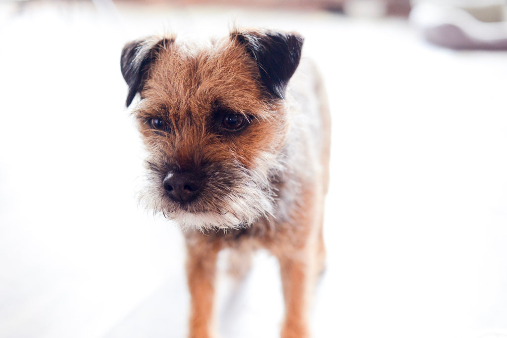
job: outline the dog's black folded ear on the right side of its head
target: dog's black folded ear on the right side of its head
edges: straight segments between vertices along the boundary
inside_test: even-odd
[[[288,80],[299,65],[303,37],[295,33],[251,31],[231,33],[257,62],[261,81],[275,98],[283,99]]]

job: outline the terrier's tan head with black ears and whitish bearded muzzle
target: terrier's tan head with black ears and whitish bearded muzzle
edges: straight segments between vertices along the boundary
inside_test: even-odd
[[[150,37],[125,46],[122,73],[147,146],[141,200],[183,227],[248,226],[273,213],[284,170],[284,93],[302,38],[238,32],[207,45]]]

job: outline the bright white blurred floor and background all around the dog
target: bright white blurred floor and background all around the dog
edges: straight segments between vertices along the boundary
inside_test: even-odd
[[[333,115],[314,337],[507,337],[507,52],[494,0],[0,2],[0,337],[185,337],[177,227],[137,206],[123,45],[295,30]],[[265,252],[223,338],[276,337]]]

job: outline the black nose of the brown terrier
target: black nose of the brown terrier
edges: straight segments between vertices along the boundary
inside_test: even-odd
[[[202,187],[202,177],[195,172],[169,173],[163,185],[169,197],[176,202],[190,202]]]

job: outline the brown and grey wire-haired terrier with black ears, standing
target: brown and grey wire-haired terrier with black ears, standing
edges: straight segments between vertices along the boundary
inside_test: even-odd
[[[139,94],[133,114],[148,152],[140,199],[183,229],[191,338],[216,336],[225,248],[278,259],[281,337],[310,336],[331,137],[322,80],[302,47],[298,33],[235,28],[205,43],[150,36],[123,48],[126,105]]]

